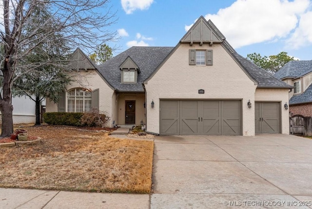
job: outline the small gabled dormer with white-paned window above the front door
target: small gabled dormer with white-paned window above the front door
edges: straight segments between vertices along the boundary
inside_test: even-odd
[[[137,75],[140,69],[130,56],[128,56],[120,65],[121,84],[137,84]]]

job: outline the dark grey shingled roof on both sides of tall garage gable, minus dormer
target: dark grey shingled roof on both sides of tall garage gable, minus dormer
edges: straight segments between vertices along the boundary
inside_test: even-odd
[[[225,41],[225,40],[224,40]],[[144,92],[142,83],[146,80],[157,68],[157,66],[169,55],[174,47],[145,47],[133,46],[126,51],[120,53],[116,57],[98,65],[99,72],[117,91],[121,92]],[[274,78],[254,63],[237,54],[234,49],[231,49],[234,57],[246,69],[255,81],[258,82],[258,87],[262,88],[292,88],[292,86]],[[128,57],[137,64],[140,68],[140,73],[137,76],[137,84],[121,84],[121,71],[119,65]]]

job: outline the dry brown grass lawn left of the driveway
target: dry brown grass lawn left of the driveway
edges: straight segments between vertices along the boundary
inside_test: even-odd
[[[154,143],[103,132],[27,127],[39,144],[0,147],[0,187],[149,193]]]

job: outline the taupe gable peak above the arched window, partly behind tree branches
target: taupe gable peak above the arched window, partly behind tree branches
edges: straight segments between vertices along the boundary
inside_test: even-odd
[[[73,69],[97,69],[96,64],[86,56],[81,49],[77,48],[71,58],[70,64]]]

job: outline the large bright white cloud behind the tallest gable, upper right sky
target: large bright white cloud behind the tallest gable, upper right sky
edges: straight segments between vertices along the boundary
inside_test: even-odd
[[[311,20],[312,17],[308,13],[306,16],[309,17],[306,17],[305,13],[310,3],[309,0],[236,0],[230,7],[220,9],[217,14],[207,14],[205,19],[213,21],[234,48],[287,39],[299,20],[302,29],[308,30],[305,31],[305,37],[309,40],[312,39],[312,27],[306,24],[309,24],[308,18]],[[185,30],[191,27],[192,25],[186,25]],[[297,36],[302,37],[301,32],[298,30]]]

